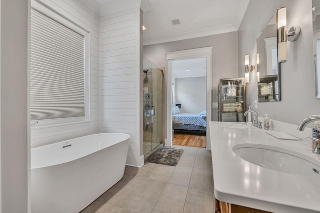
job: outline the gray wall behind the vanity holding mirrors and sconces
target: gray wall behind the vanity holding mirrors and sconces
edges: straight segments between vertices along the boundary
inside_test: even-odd
[[[299,38],[287,42],[286,62],[281,64],[281,101],[258,103],[258,115],[298,124],[303,118],[320,113],[320,100],[314,98],[311,0],[251,0],[239,28],[239,76],[244,75],[244,55],[255,63],[256,38],[276,9],[287,7],[287,29],[301,27]],[[256,99],[256,73],[247,84],[247,103]],[[311,124],[312,125],[312,124]],[[311,133],[310,133],[311,134]]]

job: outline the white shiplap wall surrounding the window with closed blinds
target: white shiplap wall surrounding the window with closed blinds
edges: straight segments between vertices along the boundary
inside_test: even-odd
[[[33,0],[31,0],[32,4]],[[51,127],[31,128],[31,148],[98,132],[99,114],[99,17],[77,0],[41,0],[90,34],[90,120]]]

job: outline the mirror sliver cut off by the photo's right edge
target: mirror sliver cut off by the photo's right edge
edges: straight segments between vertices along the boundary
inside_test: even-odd
[[[315,98],[320,99],[320,1],[312,0]]]

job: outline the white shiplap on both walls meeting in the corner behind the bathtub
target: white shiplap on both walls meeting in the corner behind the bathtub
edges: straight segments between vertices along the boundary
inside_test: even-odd
[[[139,0],[104,4],[99,14],[95,5],[87,7],[83,0],[41,1],[90,32],[90,120],[49,128],[35,125],[31,128],[31,146],[97,132],[125,132],[131,135],[127,163],[143,165],[139,146],[140,75],[136,74],[141,52]],[[122,3],[125,9],[135,9],[121,11]]]

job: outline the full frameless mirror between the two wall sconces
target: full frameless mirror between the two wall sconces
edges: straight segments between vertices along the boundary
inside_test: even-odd
[[[280,65],[277,62],[276,14],[273,14],[256,39],[259,54],[258,102],[280,101]]]

